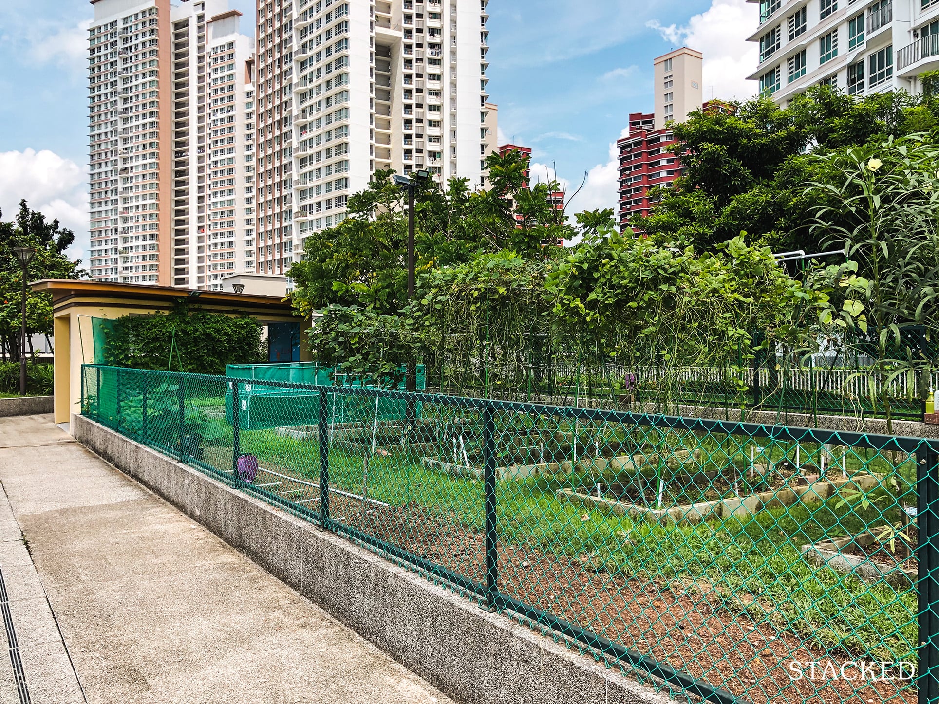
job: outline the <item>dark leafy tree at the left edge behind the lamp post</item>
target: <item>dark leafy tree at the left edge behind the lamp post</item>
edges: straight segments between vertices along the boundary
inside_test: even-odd
[[[14,247],[36,250],[27,268],[27,280],[80,279],[86,272],[81,261],[72,261],[65,251],[75,241],[71,230],[58,220],[47,222],[42,213],[20,202],[16,219],[3,222],[0,213],[0,352],[3,358],[20,359],[23,273]],[[52,296],[26,291],[26,334],[49,335],[53,329]],[[31,347],[30,350],[31,351]]]

